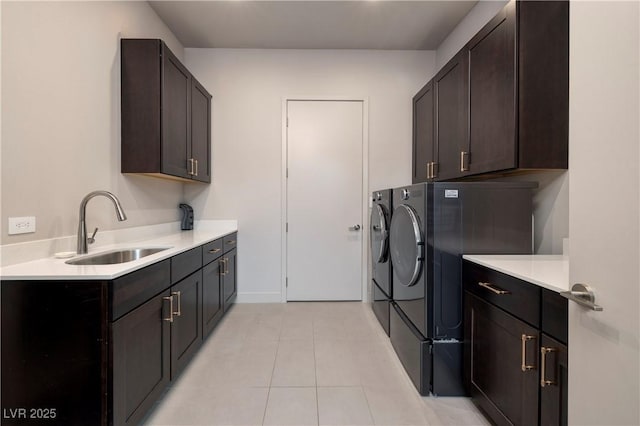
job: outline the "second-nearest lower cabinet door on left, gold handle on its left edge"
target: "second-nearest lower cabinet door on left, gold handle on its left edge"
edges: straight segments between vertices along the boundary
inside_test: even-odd
[[[202,271],[171,287],[171,380],[176,378],[202,344]]]

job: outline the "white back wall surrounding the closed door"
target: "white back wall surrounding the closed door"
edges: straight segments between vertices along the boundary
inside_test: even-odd
[[[413,95],[434,52],[186,49],[213,94],[213,182],[186,187],[196,217],[237,218],[239,300],[280,301],[282,101],[369,100],[369,188],[411,181]],[[327,247],[327,250],[330,250]]]

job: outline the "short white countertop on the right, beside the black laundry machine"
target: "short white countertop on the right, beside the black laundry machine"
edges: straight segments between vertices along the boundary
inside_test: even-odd
[[[568,256],[465,254],[462,258],[548,290],[570,289]]]

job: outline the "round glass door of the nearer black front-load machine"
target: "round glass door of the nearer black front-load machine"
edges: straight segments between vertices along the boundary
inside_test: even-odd
[[[393,270],[400,284],[414,285],[420,277],[424,262],[424,240],[415,210],[401,204],[393,211],[391,219],[390,251]]]

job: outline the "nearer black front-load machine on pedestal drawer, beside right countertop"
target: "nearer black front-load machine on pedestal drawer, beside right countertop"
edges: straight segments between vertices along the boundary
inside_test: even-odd
[[[393,190],[390,338],[421,395],[465,395],[462,254],[530,254],[529,182]]]

